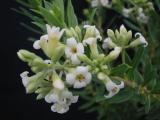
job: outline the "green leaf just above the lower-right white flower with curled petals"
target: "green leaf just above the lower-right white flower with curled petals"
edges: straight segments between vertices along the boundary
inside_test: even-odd
[[[121,64],[118,65],[117,67],[111,69],[110,75],[123,75],[124,73],[126,73],[129,69],[131,68],[131,66],[127,65],[127,64]]]

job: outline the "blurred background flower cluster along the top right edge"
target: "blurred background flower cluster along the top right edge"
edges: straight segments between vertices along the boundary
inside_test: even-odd
[[[134,5],[133,5],[134,4]],[[144,5],[145,4],[145,5]],[[92,7],[102,6],[105,8],[121,11],[122,15],[127,18],[133,18],[140,23],[148,23],[149,11],[154,10],[152,2],[148,0],[139,1],[109,1],[109,0],[91,0]],[[127,6],[127,7],[126,7]]]

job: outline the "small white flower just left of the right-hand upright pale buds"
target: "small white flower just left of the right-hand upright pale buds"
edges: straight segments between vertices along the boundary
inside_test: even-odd
[[[116,47],[116,44],[112,42],[111,38],[106,38],[104,41],[103,41],[103,44],[102,44],[102,47],[103,49],[112,49],[114,47]]]

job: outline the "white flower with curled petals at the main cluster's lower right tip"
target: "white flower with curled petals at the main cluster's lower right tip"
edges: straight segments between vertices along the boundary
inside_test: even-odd
[[[119,84],[119,85],[115,84],[115,83],[112,82],[111,80],[108,81],[108,82],[106,83],[106,89],[107,89],[107,91],[109,92],[109,94],[108,94],[108,95],[105,95],[105,98],[108,99],[108,98],[113,97],[113,96],[116,95],[116,94],[120,91],[120,89],[122,89],[122,88],[124,88],[124,82],[123,82],[123,81],[121,81],[121,84]]]

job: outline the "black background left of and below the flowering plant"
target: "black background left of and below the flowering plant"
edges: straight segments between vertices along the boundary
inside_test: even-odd
[[[73,104],[68,113],[59,115],[53,113],[51,105],[44,100],[36,101],[36,95],[25,93],[19,74],[28,68],[16,52],[21,48],[33,51],[32,42],[27,39],[39,36],[20,25],[29,20],[11,10],[19,6],[14,0],[2,0],[0,5],[0,120],[94,120],[96,115],[78,110],[80,102]]]

